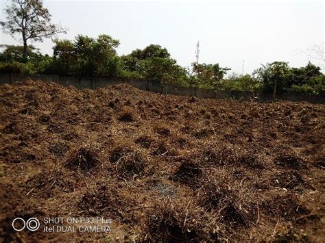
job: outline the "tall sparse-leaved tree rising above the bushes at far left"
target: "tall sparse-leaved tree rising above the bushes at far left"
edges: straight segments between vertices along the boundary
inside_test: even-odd
[[[27,41],[42,42],[59,33],[67,33],[59,25],[51,23],[49,10],[43,7],[40,0],[12,0],[12,5],[5,8],[7,21],[1,21],[5,33],[14,37],[21,34],[23,41],[23,57],[27,57]]]

